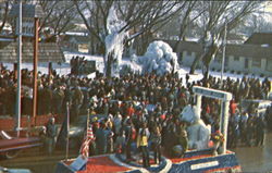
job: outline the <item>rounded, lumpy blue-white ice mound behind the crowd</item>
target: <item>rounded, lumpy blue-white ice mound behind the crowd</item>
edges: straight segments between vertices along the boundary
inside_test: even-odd
[[[157,75],[163,75],[177,70],[177,55],[163,41],[151,42],[138,62],[143,65],[144,73],[156,72]]]

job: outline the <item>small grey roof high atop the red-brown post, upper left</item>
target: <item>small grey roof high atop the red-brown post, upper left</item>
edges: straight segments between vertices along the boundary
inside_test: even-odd
[[[9,14],[11,17],[18,16],[18,4],[14,4]],[[42,17],[45,14],[40,5],[22,4],[23,17]]]

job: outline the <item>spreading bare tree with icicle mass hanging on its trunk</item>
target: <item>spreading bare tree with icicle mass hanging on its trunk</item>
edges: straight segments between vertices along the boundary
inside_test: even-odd
[[[77,1],[74,0],[79,15],[82,16],[91,37],[94,37],[101,47],[104,54],[104,75],[110,76],[112,66],[111,53],[107,53],[106,37],[110,34],[107,18],[110,9],[115,7],[119,18],[125,24],[119,29],[119,34],[129,32],[126,41],[133,40],[145,33],[152,33],[165,24],[173,15],[183,9],[178,1]],[[108,61],[109,60],[109,61]]]

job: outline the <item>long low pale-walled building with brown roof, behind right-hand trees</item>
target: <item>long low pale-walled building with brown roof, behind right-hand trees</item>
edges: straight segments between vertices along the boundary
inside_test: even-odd
[[[272,37],[272,35],[271,35]],[[248,39],[250,40],[250,38]],[[169,40],[172,48],[176,41]],[[196,57],[201,55],[202,47],[194,41],[181,41],[176,53],[180,64],[190,66]],[[222,52],[219,52],[210,64],[210,70],[221,70]],[[243,45],[227,44],[225,55],[225,71],[232,73],[258,74],[272,76],[272,47],[268,44],[254,45],[246,41]],[[198,64],[198,67],[201,63]]]

